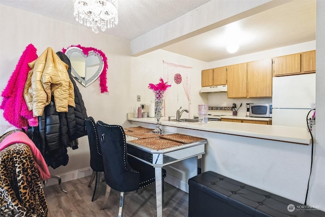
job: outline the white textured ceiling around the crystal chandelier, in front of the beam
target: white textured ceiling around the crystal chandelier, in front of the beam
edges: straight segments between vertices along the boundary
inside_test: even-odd
[[[118,0],[118,24],[105,34],[133,40],[210,0]],[[0,0],[0,4],[80,25],[73,16],[73,0]]]

